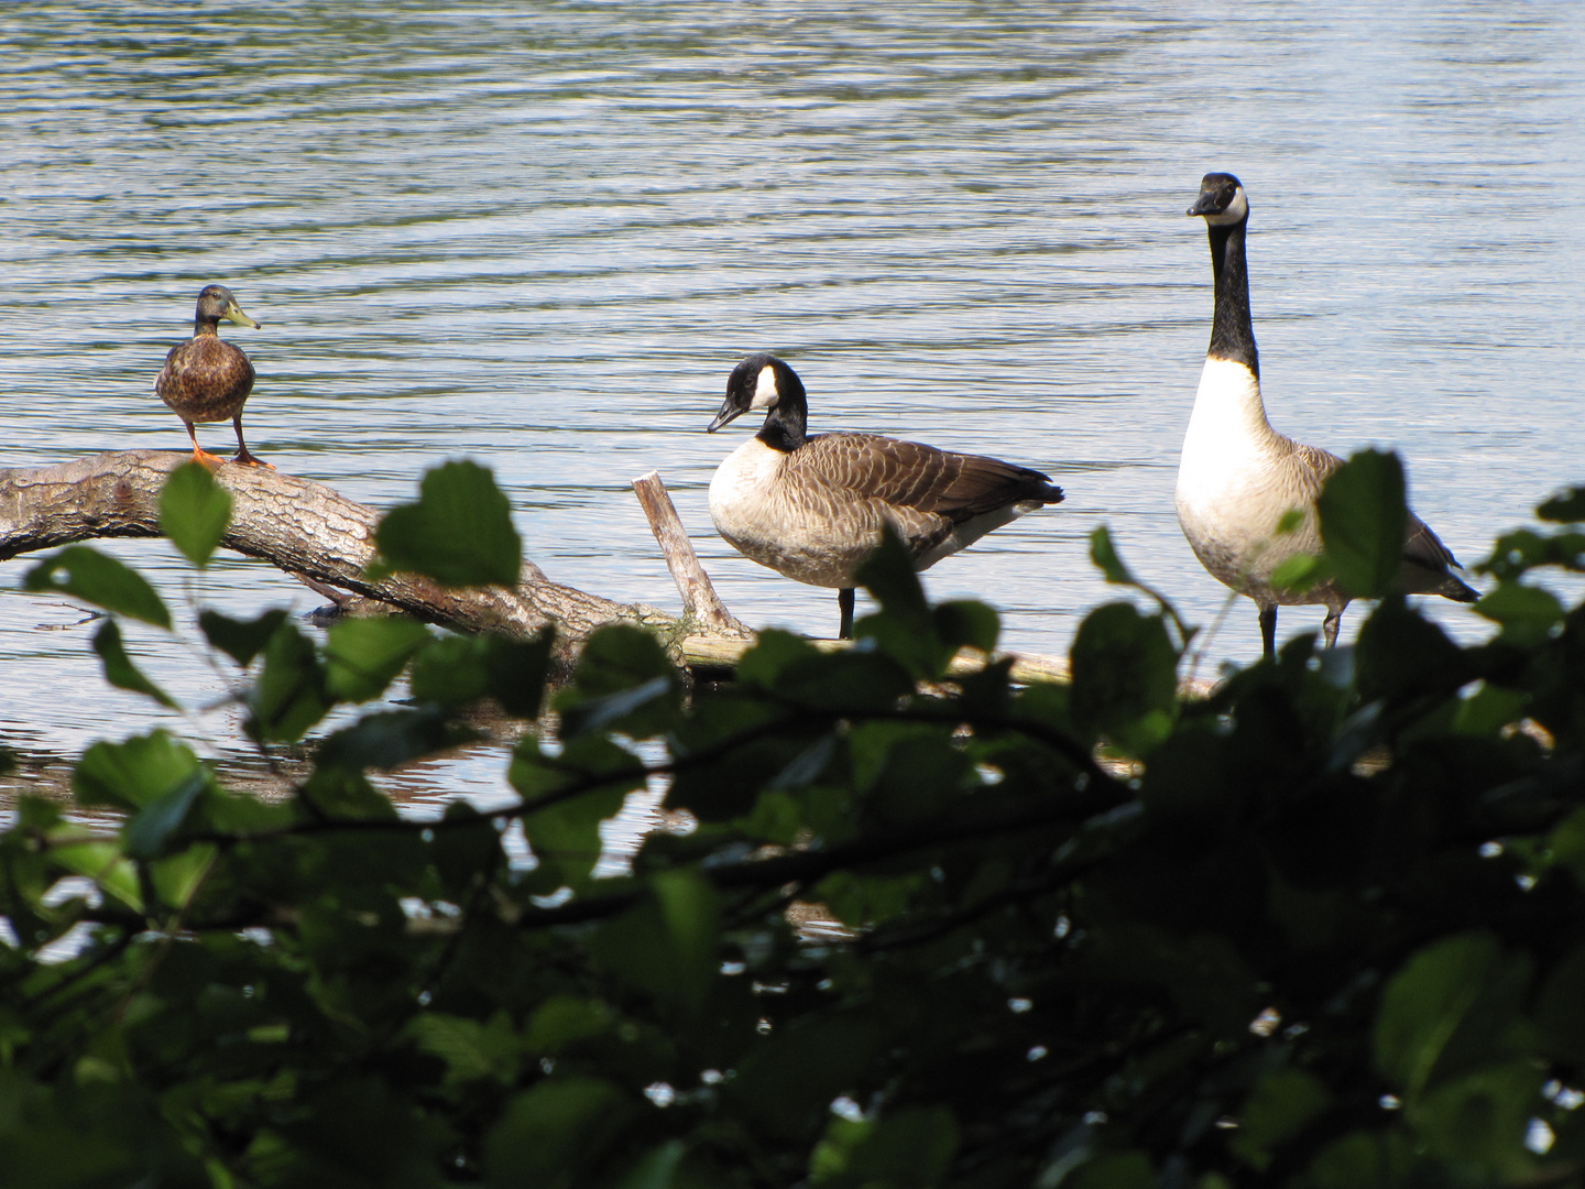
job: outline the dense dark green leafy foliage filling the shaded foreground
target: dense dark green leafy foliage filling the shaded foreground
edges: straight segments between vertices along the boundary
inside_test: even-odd
[[[1352,474],[1325,518],[1355,528],[1319,564],[1385,591],[1401,476]],[[653,639],[609,628],[550,693],[556,736],[514,748],[520,801],[428,821],[368,774],[453,745],[477,698],[537,713],[548,636],[393,620],[317,642],[204,612],[260,747],[401,672],[414,701],[320,739],[284,804],[228,793],[165,732],[76,767],[79,802],[125,816],[114,837],[19,802],[0,835],[0,1168],[36,1186],[1577,1184],[1585,606],[1537,579],[1580,568],[1580,507],[1549,501],[1550,525],[1482,563],[1487,642],[1388,594],[1325,664],[1298,636],[1198,699],[1176,690],[1192,629],[1105,533],[1092,553],[1140,604],[1086,617],[1068,686],[1016,686],[995,659],[948,680],[959,647],[994,647],[995,615],[930,606],[888,542],[854,648],[767,631],[734,685],[689,691]],[[147,612],[132,577],[60,556],[27,580]],[[119,629],[97,640],[133,682]],[[598,878],[601,823],[645,786],[694,828]],[[531,862],[509,859],[514,823]],[[800,931],[810,904],[846,931]]]

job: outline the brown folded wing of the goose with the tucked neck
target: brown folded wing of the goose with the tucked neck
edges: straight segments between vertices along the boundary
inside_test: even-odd
[[[1062,499],[1060,487],[1027,466],[867,433],[810,438],[788,465],[850,499],[880,499],[953,523],[1010,504]]]

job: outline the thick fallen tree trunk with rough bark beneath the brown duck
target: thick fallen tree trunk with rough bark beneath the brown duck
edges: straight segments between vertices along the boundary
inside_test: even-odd
[[[157,537],[160,488],[185,453],[124,450],[57,466],[0,471],[0,561],[92,537]],[[263,466],[223,465],[216,482],[231,493],[231,525],[220,544],[288,574],[353,591],[430,623],[526,637],[556,623],[577,644],[602,623],[628,620],[663,629],[674,617],[545,579],[523,563],[515,590],[449,590],[412,574],[371,580],[379,512],[323,484]]]

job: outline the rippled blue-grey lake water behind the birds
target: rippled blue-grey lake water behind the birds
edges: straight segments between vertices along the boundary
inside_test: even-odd
[[[1067,650],[1086,537],[1211,623],[1173,514],[1209,335],[1200,174],[1238,173],[1276,426],[1403,450],[1465,560],[1585,479],[1585,6],[1477,3],[25,3],[0,11],[0,466],[185,449],[151,384],[228,284],[263,328],[249,445],[376,506],[495,468],[560,582],[675,606],[628,480],[658,468],[723,598],[834,634],[831,591],[735,555],[705,488],[732,365],[812,428],[1052,474],[1068,499],[930,571]],[[231,450],[230,426],[201,441]],[[111,542],[176,602],[320,599]],[[165,723],[247,767],[235,713],[109,691],[90,625],[0,566],[0,744],[46,786]],[[862,602],[861,602],[862,607]],[[1468,610],[1436,614],[1463,637]],[[1344,631],[1357,628],[1355,609]],[[1279,629],[1319,628],[1284,610]],[[132,631],[192,705],[223,674]],[[1241,602],[1209,659],[1252,659]],[[391,782],[499,794],[499,751]]]

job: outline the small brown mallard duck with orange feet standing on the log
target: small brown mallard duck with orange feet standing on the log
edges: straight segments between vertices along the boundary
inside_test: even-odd
[[[236,304],[230,289],[204,285],[198,295],[193,336],[171,347],[171,354],[165,357],[165,368],[154,382],[154,392],[187,426],[195,463],[212,468],[223,460],[198,447],[193,422],[230,419],[236,426],[236,461],[246,466],[269,466],[249,453],[247,442],[243,441],[243,404],[254,390],[254,365],[247,361],[241,347],[233,347],[220,338],[220,319],[258,330],[258,323]]]

